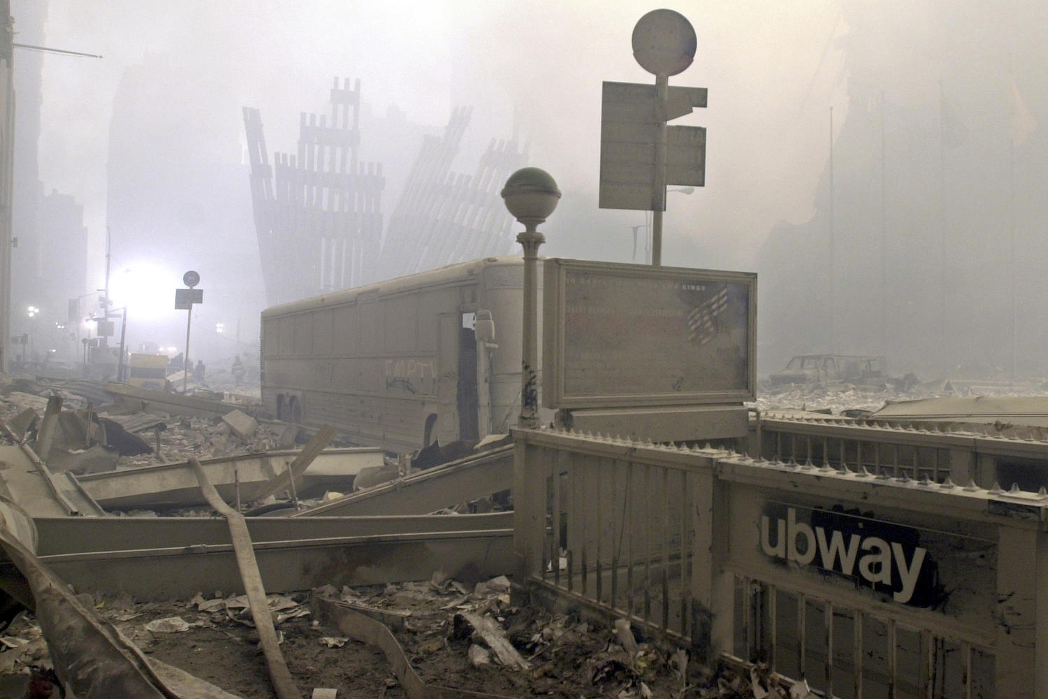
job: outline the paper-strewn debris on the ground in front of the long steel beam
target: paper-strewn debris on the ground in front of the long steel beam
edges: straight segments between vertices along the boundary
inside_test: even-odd
[[[244,595],[213,591],[184,602],[138,604],[126,595],[79,598],[150,657],[243,697],[276,696]],[[281,650],[304,696],[330,687],[337,697],[411,699],[396,663],[342,633],[331,619],[318,618],[327,616],[314,613],[322,600],[383,624],[409,669],[436,687],[572,699],[809,696],[790,694],[760,667],[737,672],[690,662],[686,651],[643,636],[626,619],[609,626],[587,621],[577,612],[555,614],[515,604],[505,577],[471,587],[441,572],[424,583],[268,595]],[[24,686],[30,668],[48,664],[31,617],[16,619],[0,643],[0,687],[16,681]]]

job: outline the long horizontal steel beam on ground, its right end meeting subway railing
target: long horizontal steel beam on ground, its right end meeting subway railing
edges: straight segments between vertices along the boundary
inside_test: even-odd
[[[500,519],[501,518],[501,519]],[[174,518],[173,518],[174,519]],[[507,574],[512,567],[512,529],[493,525],[507,523],[505,515],[432,517],[432,518],[325,518],[289,520],[272,518],[267,526],[248,520],[255,554],[265,589],[270,592],[307,590],[323,585],[379,585],[401,581],[429,580],[435,570],[451,576],[475,571],[484,577]],[[445,522],[437,522],[444,520]],[[88,550],[85,533],[78,538],[85,550],[70,550],[56,538],[75,529],[58,520],[37,521],[41,533],[41,561],[63,581],[79,591],[105,594],[128,593],[136,599],[188,599],[201,590],[242,592],[233,546],[221,520],[200,520],[206,524],[205,537],[185,543],[185,529],[194,525],[160,521],[160,527],[141,526],[157,520],[112,520],[130,522],[122,539],[118,527],[110,529],[111,539],[97,537],[105,527],[93,527],[94,543],[109,543],[109,550]],[[81,524],[106,520],[74,520]],[[355,526],[359,524],[359,526]],[[435,525],[429,530],[428,525]],[[163,526],[180,531],[180,537],[161,537],[151,547],[117,549],[116,546],[140,544],[147,531],[162,533]],[[200,525],[196,525],[200,526]],[[457,529],[453,529],[457,526]],[[485,528],[493,527],[493,528]],[[257,531],[268,529],[267,531]],[[283,529],[283,531],[277,531]],[[374,531],[336,537],[316,537],[322,530]],[[280,537],[283,539],[266,539]],[[189,538],[190,541],[194,539]],[[223,543],[203,543],[223,541]],[[157,546],[156,544],[161,544]],[[163,545],[166,544],[166,545]],[[56,549],[64,552],[46,552]]]

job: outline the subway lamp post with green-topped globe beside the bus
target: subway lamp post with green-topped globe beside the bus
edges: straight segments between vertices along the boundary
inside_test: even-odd
[[[556,182],[545,170],[522,168],[509,175],[502,189],[506,209],[524,231],[517,235],[517,242],[524,248],[524,319],[521,343],[521,414],[519,428],[533,430],[539,427],[539,318],[537,262],[539,246],[546,238],[537,231],[546,220],[561,198]]]

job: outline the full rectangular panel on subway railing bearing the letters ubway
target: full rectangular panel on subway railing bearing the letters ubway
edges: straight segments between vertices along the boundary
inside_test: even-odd
[[[848,500],[730,496],[729,565],[783,588],[840,594],[985,622],[997,599],[997,534],[911,508]]]

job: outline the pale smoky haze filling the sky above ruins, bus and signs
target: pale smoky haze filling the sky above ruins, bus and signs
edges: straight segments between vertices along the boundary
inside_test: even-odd
[[[28,4],[14,0],[16,29],[19,10]],[[643,213],[596,207],[601,84],[653,82],[633,60],[630,37],[636,21],[654,7],[546,0],[307,5],[49,0],[44,35],[16,41],[105,57],[43,59],[39,176],[43,191],[72,194],[84,206],[89,285],[101,286],[114,190],[126,188],[126,178],[136,178],[133,195],[125,193],[122,204],[127,211],[127,200],[133,199],[140,210],[133,225],[147,225],[168,202],[195,199],[199,205],[192,215],[180,204],[179,212],[158,220],[196,221],[194,230],[208,245],[239,250],[232,270],[220,264],[221,255],[204,254],[196,242],[192,254],[169,245],[161,262],[177,270],[172,284],[180,285],[183,268],[212,264],[200,269],[205,280],[235,271],[238,281],[222,293],[239,294],[231,313],[255,328],[261,282],[257,249],[252,249],[240,108],[261,110],[270,154],[292,151],[299,113],[325,111],[334,77],[361,80],[366,110],[378,116],[399,111],[413,125],[412,138],[405,138],[398,153],[369,144],[362,125],[362,159],[386,163],[387,216],[399,195],[390,185],[402,180],[397,170],[410,165],[418,148],[415,137],[438,133],[455,106],[472,106],[463,161],[471,162],[489,138],[516,130],[529,141],[530,163],[550,172],[564,192],[544,225],[543,254],[633,260],[631,226],[645,223]],[[1021,221],[1025,236],[1048,223],[1036,194],[1044,190],[1044,169],[1035,165],[1045,148],[1043,129],[1035,124],[1045,108],[1039,68],[1048,22],[1035,3],[744,0],[671,8],[687,17],[698,35],[695,63],[671,78],[671,85],[708,88],[709,107],[675,122],[708,129],[706,187],[670,195],[663,262],[759,268],[763,359],[778,363],[793,352],[830,346],[879,352],[901,344],[907,345],[901,353],[912,361],[946,338],[912,342],[930,328],[948,330],[936,325],[942,304],[924,283],[930,265],[942,258],[915,252],[940,245],[940,84],[954,118],[967,131],[961,150],[951,151],[957,157],[947,167],[952,189],[943,199],[957,212],[951,223],[958,227],[951,279],[979,275],[963,252],[969,247],[979,259],[988,255],[1000,263],[996,279],[1009,271],[1000,248],[984,244],[990,231],[1006,226],[1009,215]],[[1012,174],[1022,182],[1014,190],[1019,211],[1012,214],[1009,65],[1034,124],[1016,152],[1014,162],[1022,165]],[[888,109],[887,156],[878,121],[881,93]],[[838,268],[827,285],[831,107],[835,225],[840,227],[835,228],[833,260]],[[119,163],[114,153],[122,154]],[[886,170],[882,158],[891,163]],[[212,163],[206,176],[199,175],[201,162]],[[152,181],[145,177],[151,170],[158,173],[156,189],[145,184]],[[883,178],[889,187],[881,190]],[[976,213],[969,211],[973,201],[979,202]],[[892,255],[886,275],[878,267],[881,219],[890,228],[886,244]],[[150,235],[170,242],[185,233],[180,227],[165,223]],[[221,238],[214,234],[219,227]],[[916,235],[922,231],[931,233]],[[114,261],[132,253],[136,259],[148,257],[149,250],[116,244],[132,232],[113,228],[112,235]],[[1028,266],[1032,274],[1036,265]],[[879,280],[886,276],[894,300],[881,292]],[[208,288],[215,288],[214,282]],[[1006,364],[1008,352],[994,347],[1008,330],[1006,321],[999,318],[970,332],[962,325],[973,314],[1006,316],[994,309],[1007,299],[989,298],[982,287],[966,284],[943,288],[957,299],[948,337],[956,344],[975,333],[973,342],[982,344],[977,354]],[[1036,298],[1038,289],[1021,285],[1020,296]],[[793,312],[825,307],[830,293],[840,296],[839,305],[817,322]],[[899,305],[900,298],[920,294],[934,299],[919,312]],[[880,308],[890,319],[905,314],[910,320],[886,332]],[[210,309],[218,312],[216,306]],[[171,314],[169,321],[177,325]],[[1038,343],[1031,337],[1023,350],[1030,370],[1036,370]],[[774,349],[767,351],[769,345]],[[762,370],[768,368],[777,367]]]

